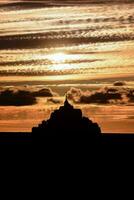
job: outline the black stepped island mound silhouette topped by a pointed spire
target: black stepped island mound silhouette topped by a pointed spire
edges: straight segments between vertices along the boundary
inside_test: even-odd
[[[80,109],[75,109],[67,100],[64,106],[55,110],[49,120],[42,121],[38,127],[32,128],[32,135],[36,138],[45,135],[89,135],[96,138],[101,134],[97,123],[82,116]]]

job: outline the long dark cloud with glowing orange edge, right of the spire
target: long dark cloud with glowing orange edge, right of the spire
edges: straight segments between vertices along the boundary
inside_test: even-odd
[[[71,88],[68,98],[75,103],[85,104],[126,104],[134,102],[134,90],[122,87],[105,87],[96,91],[82,91]]]

